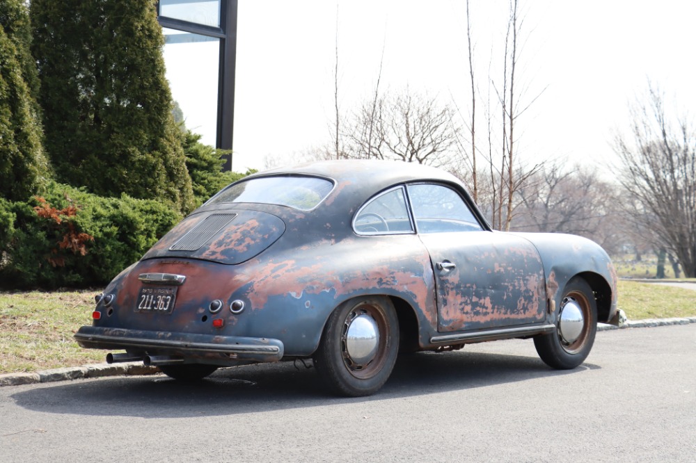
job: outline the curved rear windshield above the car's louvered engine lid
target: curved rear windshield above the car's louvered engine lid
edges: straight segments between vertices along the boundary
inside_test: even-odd
[[[332,189],[332,181],[318,177],[255,177],[228,186],[212,197],[208,204],[258,202],[309,211],[319,205]]]

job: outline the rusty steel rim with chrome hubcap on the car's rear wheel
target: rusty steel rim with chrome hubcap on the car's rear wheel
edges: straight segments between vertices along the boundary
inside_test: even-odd
[[[356,339],[351,338],[356,333],[356,328],[362,330],[368,326],[374,327],[377,338],[374,339],[373,348],[369,348],[369,343],[358,346],[358,343],[353,342]],[[369,331],[370,328],[367,328],[368,334]],[[383,311],[370,303],[362,303],[351,309],[343,320],[340,344],[343,364],[351,375],[367,379],[379,373],[386,360],[386,318]]]

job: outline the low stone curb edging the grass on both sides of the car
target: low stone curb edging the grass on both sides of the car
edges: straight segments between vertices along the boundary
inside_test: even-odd
[[[648,328],[668,325],[688,325],[696,323],[696,317],[686,318],[649,318],[647,320],[628,320],[621,327],[599,323],[597,331],[623,330],[625,328]],[[73,366],[39,371],[37,373],[7,373],[0,375],[0,387],[19,386],[22,384],[37,384],[40,382],[55,382],[79,380],[90,377],[125,376],[125,375],[155,375],[159,373],[156,366],[145,366],[140,362],[124,364],[95,364]]]

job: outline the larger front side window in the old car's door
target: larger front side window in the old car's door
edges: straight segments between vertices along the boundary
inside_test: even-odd
[[[409,199],[419,233],[482,230],[459,193],[442,185],[409,185]]]

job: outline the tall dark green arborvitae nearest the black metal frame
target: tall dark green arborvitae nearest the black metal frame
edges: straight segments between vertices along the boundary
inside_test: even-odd
[[[58,181],[193,209],[151,0],[32,0],[45,147]]]

